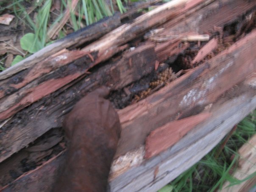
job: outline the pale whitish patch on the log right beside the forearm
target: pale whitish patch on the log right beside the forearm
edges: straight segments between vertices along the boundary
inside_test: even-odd
[[[129,151],[125,155],[115,159],[111,166],[109,180],[112,180],[116,178],[118,175],[121,175],[130,167],[134,167],[136,165],[141,164],[143,161],[144,154],[144,146],[141,146],[138,149]]]

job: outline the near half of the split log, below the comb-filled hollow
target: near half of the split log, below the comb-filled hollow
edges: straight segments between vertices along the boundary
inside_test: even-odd
[[[252,51],[255,46],[256,31],[252,31],[207,63],[187,72],[145,100],[120,110],[122,136],[117,152],[119,157],[112,167],[115,172],[112,172],[109,178],[110,190],[156,191],[201,159],[248,114],[248,111],[253,110],[256,107],[255,77],[249,75],[256,72],[256,53]],[[231,78],[234,75],[236,79]],[[248,78],[245,79],[246,77]],[[165,146],[167,150],[155,150],[155,156],[143,159],[149,148],[145,151],[141,146],[144,145],[150,131],[170,121],[173,121],[170,122],[173,125],[179,125],[179,121],[186,121],[187,118],[192,118],[192,115],[196,117],[205,112],[210,114],[200,118],[192,131],[175,145],[170,142]],[[126,154],[122,156],[124,153]],[[120,158],[135,162],[123,165]],[[22,191],[28,181],[31,189],[44,185],[41,180],[32,182],[31,178],[38,178],[37,174],[42,175],[46,168],[50,169],[53,166],[57,166],[56,161],[47,162],[41,170],[21,176],[14,184],[6,186],[4,191],[17,187]],[[48,173],[45,176],[51,177],[54,181],[54,174],[55,172],[52,175]],[[45,187],[49,190],[50,184]]]

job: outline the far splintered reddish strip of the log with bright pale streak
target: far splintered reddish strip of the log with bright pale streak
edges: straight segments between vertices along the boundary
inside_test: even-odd
[[[136,36],[145,33],[145,31],[147,31],[149,28],[160,25],[166,22],[168,19],[195,7],[202,2],[203,0],[171,1],[164,4],[163,6],[159,6],[147,14],[136,18],[131,24],[124,24],[120,26],[119,28],[103,36],[103,38],[100,40],[84,47],[82,50],[67,51],[64,53],[64,55],[58,55],[57,60],[63,60],[61,61],[62,64],[59,66],[62,67],[59,70],[61,70],[61,74],[65,74],[65,78],[63,78],[63,75],[59,74],[59,70],[56,70],[54,75],[53,73],[51,74],[54,76],[54,78],[48,77],[48,75],[43,75],[45,74],[45,70],[43,70],[41,73],[36,73],[36,75],[33,75],[35,71],[38,71],[41,68],[39,63],[32,66],[34,68],[32,69],[32,74],[30,73],[31,69],[25,70],[28,67],[31,67],[33,64],[31,63],[31,60],[34,59],[33,57],[38,57],[37,54],[39,53],[36,53],[36,56],[31,56],[32,58],[29,57],[25,61],[21,61],[22,63],[15,65],[16,67],[11,67],[8,70],[2,72],[0,77],[1,79],[4,79],[14,75],[17,72],[20,72],[21,70],[25,70],[15,75],[14,77],[11,77],[11,79],[7,79],[1,83],[1,86],[8,86],[8,89],[7,91],[3,88],[0,90],[2,97],[6,96],[0,100],[2,103],[0,108],[0,120],[11,117],[13,114],[17,113],[31,103],[36,102],[42,97],[45,97],[46,95],[49,95],[50,93],[60,89],[62,86],[70,83],[76,78],[79,78],[96,64],[99,64],[102,61],[106,61],[115,53],[117,53],[120,50],[120,46],[136,38]],[[47,50],[47,47],[45,47],[45,49]],[[45,53],[45,50],[41,51]],[[49,53],[47,52],[47,54]],[[70,69],[71,67],[69,65],[64,67],[63,65],[71,62],[66,54],[69,56],[75,55],[73,56],[74,58],[72,58],[72,60],[80,58],[81,61],[79,62],[85,64],[82,64],[78,67],[72,66],[72,69]],[[51,58],[50,61],[45,62],[53,62],[55,64],[56,60],[54,59],[55,58]],[[50,64],[50,66],[52,65],[53,64]],[[46,70],[46,72],[47,71],[48,70]],[[25,75],[29,75],[29,77],[24,79],[21,78]],[[38,79],[38,82],[32,82],[35,80],[35,78]],[[19,85],[16,86],[16,84]],[[23,90],[17,92],[17,89],[21,89],[21,87],[25,89],[25,92]],[[45,90],[45,93],[40,95],[38,93],[39,90]]]

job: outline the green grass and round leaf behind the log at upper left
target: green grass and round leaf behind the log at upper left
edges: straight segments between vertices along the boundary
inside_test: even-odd
[[[0,2],[0,13],[8,8],[11,10],[11,14],[15,14],[15,16],[31,30],[31,33],[25,34],[20,42],[22,49],[27,51],[24,58],[32,53],[36,53],[38,50],[56,40],[56,38],[49,38],[47,32],[51,28],[56,28],[56,24],[64,17],[64,11],[71,7],[72,0],[61,0],[60,2],[61,8],[57,14],[51,11],[53,0],[14,0],[11,3],[4,0]],[[68,20],[65,26],[58,32],[57,39],[66,36],[67,29],[71,28],[73,31],[77,31],[104,17],[111,16],[114,13],[114,5],[112,0],[110,0],[110,2],[111,6],[108,6],[105,0],[79,0],[75,11],[70,11],[71,21]],[[123,3],[127,3],[126,0],[124,2],[117,0],[116,3],[119,11],[124,13],[126,9]],[[55,16],[54,19],[53,16]],[[14,58],[12,65],[20,60],[20,56],[16,59]],[[1,63],[0,71],[5,70],[3,66],[3,63]]]

